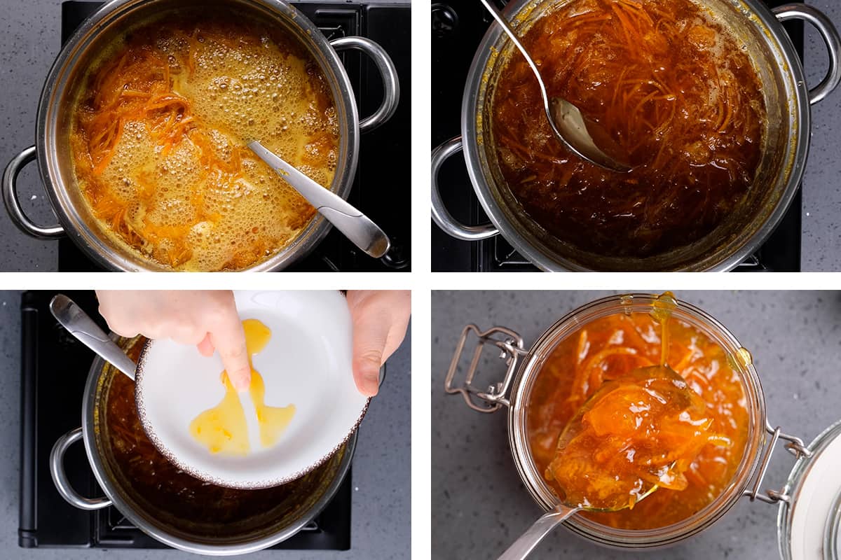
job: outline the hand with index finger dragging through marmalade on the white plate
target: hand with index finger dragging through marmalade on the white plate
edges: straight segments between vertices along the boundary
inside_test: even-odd
[[[229,290],[97,290],[99,313],[123,337],[171,338],[219,352],[236,390],[251,383],[246,333]]]

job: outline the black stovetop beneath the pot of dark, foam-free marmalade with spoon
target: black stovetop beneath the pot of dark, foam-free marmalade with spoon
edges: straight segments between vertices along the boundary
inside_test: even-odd
[[[505,0],[495,0],[502,8]],[[785,0],[764,0],[770,7]],[[461,134],[464,84],[473,55],[493,19],[476,0],[432,3],[432,148]],[[803,24],[784,24],[803,57]],[[464,160],[454,156],[439,175],[442,198],[452,216],[464,223],[486,223],[488,217],[473,194]],[[799,272],[801,247],[801,191],[771,237],[740,264],[738,271]],[[460,241],[432,223],[431,264],[434,271],[535,271],[537,267],[517,253],[501,235],[483,241]]]

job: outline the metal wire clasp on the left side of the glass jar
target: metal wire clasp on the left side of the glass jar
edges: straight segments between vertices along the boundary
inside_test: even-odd
[[[464,382],[461,385],[453,386],[452,379],[456,376],[458,362],[462,357],[462,351],[464,345],[467,343],[470,332],[475,332],[478,338],[476,348],[473,349],[473,359],[470,360],[470,366],[464,377]],[[473,387],[473,376],[476,374],[476,368],[479,366],[482,349],[488,343],[500,349],[500,359],[505,360],[508,370],[505,372],[505,379],[495,385],[489,385],[488,389],[483,391]],[[510,330],[510,328],[491,327],[483,332],[476,325],[468,325],[464,327],[462,336],[458,339],[456,351],[452,354],[450,369],[447,370],[447,379],[444,381],[444,390],[450,395],[461,393],[464,397],[464,402],[474,411],[498,411],[503,405],[508,406],[508,400],[505,399],[505,395],[507,395],[508,389],[510,388],[511,379],[514,378],[517,361],[521,356],[525,356],[526,353],[526,350],[523,348],[522,337],[518,333]]]

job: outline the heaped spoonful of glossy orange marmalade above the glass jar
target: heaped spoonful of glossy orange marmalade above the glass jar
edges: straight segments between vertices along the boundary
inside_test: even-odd
[[[570,419],[546,476],[564,503],[633,508],[653,489],[683,490],[685,471],[708,443],[713,418],[701,396],[664,366],[606,382]]]

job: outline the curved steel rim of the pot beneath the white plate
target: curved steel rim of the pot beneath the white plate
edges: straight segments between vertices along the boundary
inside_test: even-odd
[[[114,333],[109,333],[109,336],[114,340],[119,339],[119,337],[114,335]],[[127,504],[125,500],[123,500],[119,492],[114,488],[110,479],[108,479],[105,475],[103,461],[99,456],[95,444],[96,435],[94,433],[93,425],[94,411],[96,408],[95,397],[97,394],[98,382],[106,365],[105,360],[99,356],[93,360],[91,369],[87,374],[85,392],[82,396],[82,441],[85,445],[87,461],[91,466],[91,470],[93,470],[93,475],[97,479],[100,488],[103,489],[103,492],[108,497],[108,500],[111,500],[114,507],[116,507],[120,513],[126,516],[129,521],[134,523],[141,531],[170,547],[177,548],[185,552],[204,554],[206,556],[232,556],[235,554],[257,552],[258,550],[271,547],[278,542],[283,542],[290,536],[299,532],[301,528],[309,523],[309,521],[312,521],[320,514],[321,510],[323,510],[325,506],[328,505],[335,497],[336,491],[339,489],[342,482],[344,482],[344,479],[350,470],[351,460],[356,448],[358,431],[354,431],[352,436],[347,439],[344,452],[345,454],[342,456],[341,462],[336,468],[336,476],[331,480],[330,484],[327,485],[324,494],[321,495],[315,505],[308,512],[305,512],[302,516],[300,516],[299,520],[294,524],[284,527],[283,530],[270,536],[264,536],[252,542],[238,542],[234,544],[212,545],[202,542],[193,542],[180,536],[171,535],[166,531],[161,530],[160,527],[151,525],[142,516],[138,515],[135,510]],[[121,373],[119,373],[119,371],[114,371],[114,375],[121,375]]]

